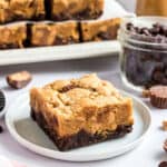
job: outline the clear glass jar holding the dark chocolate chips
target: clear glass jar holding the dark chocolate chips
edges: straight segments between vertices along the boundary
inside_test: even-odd
[[[167,30],[166,38],[137,35],[127,30],[129,22],[137,28],[151,28],[155,23],[167,23],[167,18],[138,17],[124,20],[118,32],[121,43],[122,81],[135,90],[154,85],[167,85]]]

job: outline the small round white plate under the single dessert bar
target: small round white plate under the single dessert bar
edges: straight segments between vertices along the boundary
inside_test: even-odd
[[[130,96],[124,91],[120,92],[124,96]],[[9,107],[6,115],[6,124],[10,134],[18,143],[46,157],[70,161],[107,159],[125,154],[138,146],[149,130],[151,122],[149,109],[139,99],[132,96],[130,97],[134,99],[135,110],[135,125],[132,132],[119,139],[105,141],[70,151],[59,151],[53,143],[45,135],[36,122],[32,121],[30,118],[28,94],[19,97]]]

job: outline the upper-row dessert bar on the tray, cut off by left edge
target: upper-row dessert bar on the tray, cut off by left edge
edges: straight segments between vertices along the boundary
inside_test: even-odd
[[[45,19],[45,0],[0,0],[0,23]]]

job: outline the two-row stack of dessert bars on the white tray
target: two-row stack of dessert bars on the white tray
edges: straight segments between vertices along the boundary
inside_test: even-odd
[[[0,49],[116,39],[120,19],[98,21],[104,9],[105,0],[0,0]]]

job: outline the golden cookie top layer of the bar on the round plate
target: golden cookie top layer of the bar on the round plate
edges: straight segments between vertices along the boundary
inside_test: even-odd
[[[134,124],[131,99],[121,97],[114,86],[96,75],[33,88],[30,99],[33,111],[42,111],[59,137],[81,129],[101,134],[115,130],[118,125]]]

